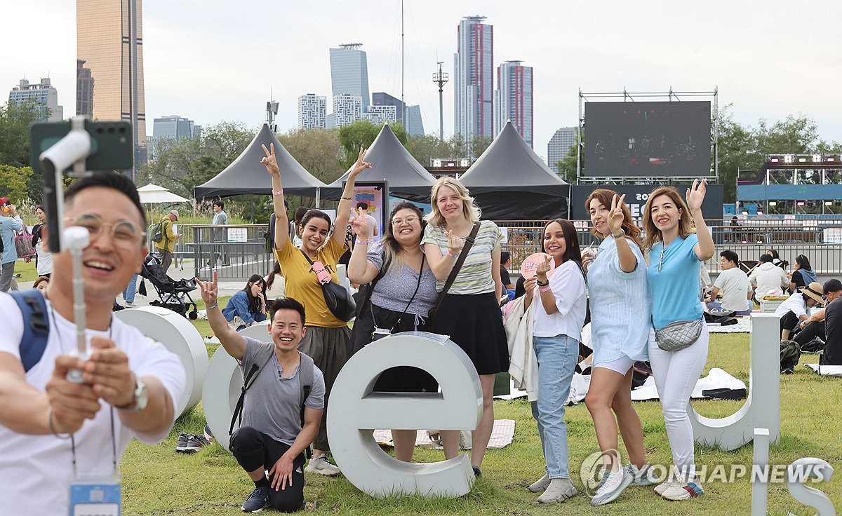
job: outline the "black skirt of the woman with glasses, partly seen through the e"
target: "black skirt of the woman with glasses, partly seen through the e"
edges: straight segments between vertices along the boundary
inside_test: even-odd
[[[402,314],[387,308],[372,305],[363,306],[360,316],[354,319],[351,332],[351,353],[354,354],[371,343],[371,332],[377,327],[391,329],[392,333],[415,331],[415,314]],[[418,324],[419,332],[429,332],[428,322]],[[374,391],[380,392],[437,392],[439,383],[427,371],[417,367],[392,367],[383,371],[377,379]]]

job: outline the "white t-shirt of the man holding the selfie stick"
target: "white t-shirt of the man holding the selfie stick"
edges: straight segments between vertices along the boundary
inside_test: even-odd
[[[49,301],[48,301],[49,305]],[[76,346],[76,326],[48,309],[50,337],[40,362],[26,373],[30,386],[45,391],[52,375],[56,356],[67,354]],[[23,317],[17,303],[10,295],[0,294],[0,352],[19,358],[20,338],[23,335]],[[112,318],[111,329],[106,332],[88,330],[88,339],[99,335],[113,339],[118,348],[129,358],[129,367],[138,376],[152,375],[161,380],[172,400],[173,407],[184,391],[186,379],[184,366],[178,355],[162,343],[145,337],[136,327]],[[110,407],[103,407],[92,420],[87,420],[74,434],[76,441],[77,471],[105,473],[113,471],[111,447]],[[175,414],[178,416],[178,414]],[[117,463],[133,437],[141,442],[154,444],[169,434],[169,428],[160,434],[137,434],[120,423],[114,415]],[[0,500],[4,507],[13,508],[16,514],[67,514],[70,503],[72,476],[70,439],[54,435],[17,434],[0,425]],[[3,511],[0,511],[3,512]]]

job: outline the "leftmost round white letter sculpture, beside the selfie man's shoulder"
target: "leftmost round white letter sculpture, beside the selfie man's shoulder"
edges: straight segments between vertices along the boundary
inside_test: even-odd
[[[115,312],[115,317],[136,327],[149,338],[163,343],[179,355],[187,375],[186,389],[175,407],[179,416],[195,407],[201,399],[205,371],[208,369],[208,350],[199,331],[183,316],[160,306],[141,306]]]

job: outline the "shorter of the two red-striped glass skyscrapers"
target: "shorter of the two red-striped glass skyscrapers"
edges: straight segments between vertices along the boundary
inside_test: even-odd
[[[532,141],[532,66],[521,66],[520,61],[505,61],[497,67],[497,89],[494,91],[494,136],[506,120],[530,147]]]

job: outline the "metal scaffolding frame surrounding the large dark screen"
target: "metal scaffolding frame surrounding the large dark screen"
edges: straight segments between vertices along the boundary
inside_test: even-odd
[[[647,98],[648,100],[669,100],[680,102],[682,98],[712,98],[711,106],[711,152],[713,154],[713,166],[711,174],[707,176],[713,183],[719,182],[719,88],[713,91],[701,92],[674,92],[670,87],[666,92],[629,92],[623,88],[622,92],[610,93],[584,93],[581,89],[578,92],[579,114],[578,114],[578,136],[576,145],[576,184],[674,184],[692,182],[695,177],[671,176],[658,178],[634,178],[634,177],[583,177],[582,176],[582,151],[584,148],[584,104],[590,100],[605,100],[610,98],[621,98],[622,102],[635,102],[635,98]]]

